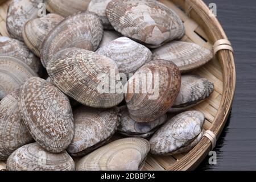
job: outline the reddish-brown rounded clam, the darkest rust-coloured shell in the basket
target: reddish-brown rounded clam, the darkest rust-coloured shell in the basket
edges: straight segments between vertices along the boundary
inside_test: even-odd
[[[180,72],[170,61],[153,60],[139,68],[124,89],[130,117],[136,122],[151,122],[174,103],[180,90]]]

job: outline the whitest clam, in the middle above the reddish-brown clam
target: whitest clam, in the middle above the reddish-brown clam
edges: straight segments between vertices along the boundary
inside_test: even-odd
[[[96,53],[104,55],[117,63],[119,73],[134,73],[151,60],[151,51],[133,40],[121,37],[113,40]]]

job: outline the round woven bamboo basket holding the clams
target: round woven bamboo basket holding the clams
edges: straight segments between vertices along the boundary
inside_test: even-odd
[[[206,48],[213,48],[213,44],[220,39],[227,39],[224,30],[214,16],[209,15],[209,9],[201,0],[159,0],[171,7],[185,24],[186,42],[194,42]],[[1,1],[2,2],[2,1]],[[0,34],[9,36],[6,30],[6,13],[10,1],[0,6]],[[0,3],[1,4],[1,3]],[[232,51],[222,49],[208,64],[193,71],[196,75],[207,78],[214,83],[214,92],[208,100],[192,109],[205,114],[204,129],[216,135],[225,125],[232,105],[236,84],[236,71]],[[195,169],[211,150],[211,142],[203,137],[191,151],[170,155],[149,155],[143,170],[192,170]],[[5,169],[5,162],[0,161],[0,170]]]

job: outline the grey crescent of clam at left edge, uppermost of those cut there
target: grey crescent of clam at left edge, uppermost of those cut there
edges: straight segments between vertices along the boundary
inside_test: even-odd
[[[30,52],[26,45],[19,40],[0,36],[0,55],[16,57],[39,75],[43,73],[40,59]]]

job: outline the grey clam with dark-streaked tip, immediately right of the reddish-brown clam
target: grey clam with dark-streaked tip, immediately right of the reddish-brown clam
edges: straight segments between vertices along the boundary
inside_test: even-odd
[[[180,92],[170,112],[183,111],[204,101],[214,90],[212,82],[196,75],[181,76]]]

